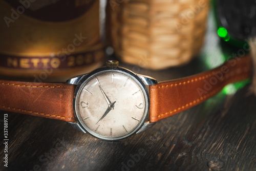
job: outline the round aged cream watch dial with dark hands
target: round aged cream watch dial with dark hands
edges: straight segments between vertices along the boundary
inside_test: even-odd
[[[109,69],[88,76],[75,101],[79,124],[104,140],[135,133],[144,123],[148,94],[142,81],[124,70]]]

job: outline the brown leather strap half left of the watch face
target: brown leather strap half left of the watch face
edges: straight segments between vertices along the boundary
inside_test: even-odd
[[[0,80],[0,110],[74,122],[74,86]]]

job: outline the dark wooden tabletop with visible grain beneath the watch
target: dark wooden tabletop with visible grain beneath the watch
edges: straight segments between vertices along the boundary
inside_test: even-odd
[[[200,56],[186,66],[162,71],[121,66],[159,81],[215,67],[220,55],[237,50],[221,46],[212,18],[208,27]],[[8,113],[8,169],[0,122],[0,170],[256,170],[256,98],[249,88],[222,91],[118,142],[96,139],[63,121]],[[1,111],[1,119],[6,113]]]

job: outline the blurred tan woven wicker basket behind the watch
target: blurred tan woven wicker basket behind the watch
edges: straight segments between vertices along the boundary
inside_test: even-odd
[[[109,1],[108,43],[122,61],[149,69],[179,66],[202,46],[207,0]]]

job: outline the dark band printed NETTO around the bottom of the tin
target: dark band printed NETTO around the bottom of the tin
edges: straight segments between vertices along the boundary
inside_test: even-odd
[[[87,66],[104,60],[104,50],[94,50],[72,55],[45,57],[10,56],[0,54],[0,67],[13,69],[67,69]]]

